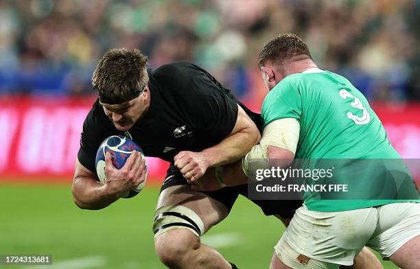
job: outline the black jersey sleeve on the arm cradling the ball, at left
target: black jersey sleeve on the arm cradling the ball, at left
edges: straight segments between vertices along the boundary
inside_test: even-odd
[[[97,149],[100,147],[102,141],[111,135],[110,127],[112,123],[110,123],[106,115],[104,115],[103,110],[101,110],[100,104],[96,102],[86,116],[86,119],[84,119],[78,152],[79,162],[94,173],[96,173],[95,157]]]

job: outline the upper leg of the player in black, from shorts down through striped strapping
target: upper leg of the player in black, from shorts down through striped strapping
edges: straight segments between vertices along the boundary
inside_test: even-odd
[[[154,213],[154,235],[158,237],[167,231],[187,229],[200,237],[226,218],[237,196],[233,187],[193,191],[179,169],[170,165]]]

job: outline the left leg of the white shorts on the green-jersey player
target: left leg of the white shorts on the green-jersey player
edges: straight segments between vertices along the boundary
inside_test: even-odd
[[[376,209],[318,212],[303,206],[296,210],[275,250],[280,259],[294,255],[293,261],[307,257],[349,266],[375,231],[376,222]]]

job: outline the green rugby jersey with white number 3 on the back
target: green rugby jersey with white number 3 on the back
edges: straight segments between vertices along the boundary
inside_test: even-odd
[[[364,95],[355,89],[349,80],[330,71],[310,69],[303,73],[288,75],[264,99],[261,117],[264,127],[276,119],[294,118],[299,121],[296,159],[401,160],[401,156],[388,141],[380,119]],[[341,175],[336,176],[334,178],[336,182],[333,183],[349,183],[349,180],[353,180],[350,183],[358,185],[353,186],[356,189],[366,190],[366,186],[375,187],[371,185],[367,176],[362,179],[356,176],[359,182],[354,180],[355,174],[349,176],[351,173],[346,171],[348,168],[346,165],[349,166],[344,164],[340,167]],[[394,162],[394,166],[410,174],[404,162],[401,161],[399,164]],[[377,168],[373,167],[373,170],[375,169]],[[380,198],[322,200],[314,198],[313,193],[305,193],[303,198],[308,209],[325,212],[403,201],[377,200]],[[415,200],[410,201],[420,202],[417,199],[416,190]]]

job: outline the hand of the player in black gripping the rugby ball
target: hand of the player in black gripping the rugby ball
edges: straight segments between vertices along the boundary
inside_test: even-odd
[[[121,169],[113,166],[111,154],[105,156],[106,193],[121,197],[145,180],[145,160],[140,152],[132,152]]]

